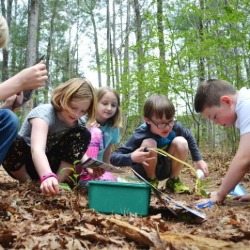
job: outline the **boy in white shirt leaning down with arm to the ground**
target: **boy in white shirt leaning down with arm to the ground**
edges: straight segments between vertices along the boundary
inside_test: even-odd
[[[250,90],[237,91],[224,80],[210,79],[203,81],[197,89],[194,99],[195,111],[201,113],[215,124],[236,126],[240,130],[239,148],[223,179],[218,192],[210,198],[213,202],[222,202],[230,191],[250,170]],[[250,200],[250,196],[236,197]],[[206,200],[208,201],[208,200]],[[205,202],[198,201],[197,203]]]

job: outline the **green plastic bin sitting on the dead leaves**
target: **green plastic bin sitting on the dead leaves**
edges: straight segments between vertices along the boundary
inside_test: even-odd
[[[145,183],[89,181],[89,208],[100,213],[147,216],[150,195]]]

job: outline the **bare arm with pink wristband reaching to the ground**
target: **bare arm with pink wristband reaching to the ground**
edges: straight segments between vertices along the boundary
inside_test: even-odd
[[[36,171],[40,178],[48,176],[52,173],[48,158],[45,154],[48,124],[41,118],[33,118],[30,120],[32,125],[31,131],[31,153]],[[57,194],[59,192],[58,180],[56,176],[45,179],[40,186],[44,194]]]

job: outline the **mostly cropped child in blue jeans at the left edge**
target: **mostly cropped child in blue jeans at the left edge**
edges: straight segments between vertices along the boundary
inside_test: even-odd
[[[0,48],[7,46],[9,29],[6,20],[0,15]],[[46,66],[43,62],[24,69],[15,76],[0,84],[0,101],[9,98],[8,103],[12,107],[15,99],[22,90],[36,89],[45,86],[48,80]],[[5,106],[3,106],[5,107]],[[0,109],[0,165],[3,162],[13,140],[15,139],[19,122],[18,117],[9,109]]]

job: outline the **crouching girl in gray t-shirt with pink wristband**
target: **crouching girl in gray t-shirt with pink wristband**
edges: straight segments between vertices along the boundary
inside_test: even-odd
[[[25,118],[3,161],[4,169],[20,182],[40,179],[44,194],[57,194],[58,182],[67,180],[87,150],[90,133],[80,117],[88,114],[93,120],[95,105],[94,89],[87,80],[74,78],[59,85],[51,104],[34,108]],[[97,169],[93,176],[101,174]]]

